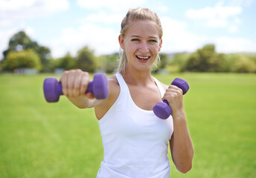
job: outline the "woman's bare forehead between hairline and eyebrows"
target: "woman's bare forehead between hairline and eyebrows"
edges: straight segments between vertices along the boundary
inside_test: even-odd
[[[150,20],[132,20],[126,31],[126,36],[154,36],[159,37],[159,29],[155,22]]]

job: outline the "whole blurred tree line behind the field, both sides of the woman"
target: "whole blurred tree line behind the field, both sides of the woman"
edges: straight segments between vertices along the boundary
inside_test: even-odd
[[[53,59],[48,47],[31,40],[24,31],[14,34],[4,59],[0,61],[0,72],[13,72],[19,68],[33,68],[42,73],[51,73],[56,69],[70,70],[80,68],[88,72],[103,70],[113,73],[118,67],[118,53],[95,56],[94,50],[83,47],[76,56]],[[252,53],[217,53],[214,44],[206,44],[194,53],[160,54],[161,63],[155,72],[235,72],[255,73],[256,54]]]

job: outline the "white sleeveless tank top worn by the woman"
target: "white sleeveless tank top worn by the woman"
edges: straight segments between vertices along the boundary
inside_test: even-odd
[[[173,118],[159,119],[153,111],[138,108],[120,73],[118,99],[99,120],[104,160],[97,178],[169,178],[168,142]],[[164,88],[155,79],[161,97]]]

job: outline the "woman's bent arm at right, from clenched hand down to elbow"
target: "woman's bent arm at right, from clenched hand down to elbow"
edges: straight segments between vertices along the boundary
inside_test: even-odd
[[[182,90],[170,85],[163,99],[166,99],[172,108],[174,130],[170,139],[170,151],[173,162],[178,171],[186,173],[192,168],[193,144],[183,108]]]

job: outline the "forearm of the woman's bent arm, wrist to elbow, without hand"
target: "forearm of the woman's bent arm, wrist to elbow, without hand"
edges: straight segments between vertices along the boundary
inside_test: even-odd
[[[188,132],[185,113],[173,113],[173,136],[170,149],[176,168],[182,173],[191,170],[193,159],[193,144]]]

